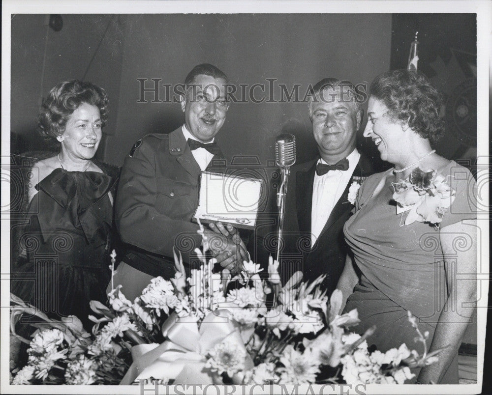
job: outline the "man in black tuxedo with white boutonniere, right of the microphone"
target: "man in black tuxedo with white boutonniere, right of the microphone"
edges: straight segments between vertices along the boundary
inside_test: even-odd
[[[308,98],[308,112],[319,157],[291,168],[282,277],[286,280],[302,270],[304,281],[313,281],[326,274],[321,287],[331,295],[348,253],[343,225],[354,207],[354,193],[349,198],[349,192],[373,171],[368,158],[356,148],[363,110],[353,84],[321,80]]]

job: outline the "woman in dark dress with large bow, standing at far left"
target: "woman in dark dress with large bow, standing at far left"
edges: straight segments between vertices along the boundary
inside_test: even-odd
[[[27,222],[14,245],[23,262],[11,291],[49,317],[73,314],[86,330],[91,300],[106,302],[117,169],[93,161],[107,120],[104,89],[83,81],[56,85],[43,100],[41,135],[59,146],[29,173]],[[44,155],[46,156],[46,155]]]

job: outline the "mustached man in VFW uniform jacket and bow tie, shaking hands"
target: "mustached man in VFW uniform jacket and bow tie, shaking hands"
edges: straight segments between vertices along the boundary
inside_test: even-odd
[[[169,134],[151,134],[137,141],[126,157],[118,194],[115,222],[126,243],[116,284],[133,300],[156,276],[174,277],[173,252],[181,252],[186,270],[200,247],[198,224],[191,221],[198,206],[199,179],[212,159],[222,154],[215,135],[229,104],[226,75],[211,64],[195,66],[187,75],[181,96],[184,125]],[[244,244],[230,232],[215,233],[212,251],[217,262],[237,271],[247,258]],[[236,235],[237,236],[237,235]]]

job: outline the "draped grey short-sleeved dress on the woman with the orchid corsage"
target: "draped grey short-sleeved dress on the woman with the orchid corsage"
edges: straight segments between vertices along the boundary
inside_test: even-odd
[[[476,187],[471,173],[454,161],[438,172],[448,176],[448,185],[456,191],[440,228],[477,218],[476,209],[470,204]],[[392,179],[391,170],[367,178],[359,190],[355,214],[345,223],[345,238],[362,274],[344,311],[358,310],[361,319],[355,328],[358,333],[376,325],[376,332],[368,339],[369,345],[375,344],[385,352],[406,343],[410,350],[422,354],[422,344],[414,342],[417,333],[408,322],[407,310],[418,318],[422,333],[429,331],[430,346],[447,299],[444,258],[439,231],[429,223],[400,226],[405,217],[402,220],[401,214],[396,214],[396,206],[391,204]],[[375,193],[379,188],[380,192]],[[465,237],[460,243],[470,246],[469,242]],[[460,271],[459,267],[457,270]],[[412,372],[418,375],[419,370]],[[408,383],[413,382],[415,378]],[[458,383],[457,358],[440,384],[453,383]]]

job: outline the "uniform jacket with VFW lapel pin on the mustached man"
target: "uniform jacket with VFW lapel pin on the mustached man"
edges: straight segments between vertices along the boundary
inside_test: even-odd
[[[225,159],[215,155],[207,170],[220,171],[214,169],[217,162],[224,164]],[[189,264],[190,253],[202,239],[198,224],[191,221],[198,206],[200,174],[181,127],[135,143],[123,164],[115,210],[127,264],[152,276],[172,278],[173,248]]]

